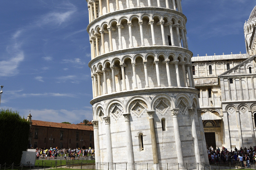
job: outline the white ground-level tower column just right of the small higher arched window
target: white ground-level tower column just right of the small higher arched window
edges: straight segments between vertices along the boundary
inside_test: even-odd
[[[184,161],[183,161],[182,145],[180,140],[180,130],[178,125],[178,113],[179,113],[179,109],[172,109],[172,121],[173,121],[178,163],[183,164]]]

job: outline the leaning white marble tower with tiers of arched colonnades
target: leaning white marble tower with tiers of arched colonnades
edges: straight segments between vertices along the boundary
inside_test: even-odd
[[[96,162],[208,162],[180,0],[87,0]]]

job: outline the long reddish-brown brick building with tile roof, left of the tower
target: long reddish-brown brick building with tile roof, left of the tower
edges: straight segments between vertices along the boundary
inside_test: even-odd
[[[30,123],[28,148],[94,148],[92,126],[37,121],[31,117],[30,114],[27,117]]]

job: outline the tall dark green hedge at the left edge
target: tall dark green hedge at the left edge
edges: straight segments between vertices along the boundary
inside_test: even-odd
[[[17,111],[0,111],[0,164],[20,163],[22,151],[27,150],[29,128]]]

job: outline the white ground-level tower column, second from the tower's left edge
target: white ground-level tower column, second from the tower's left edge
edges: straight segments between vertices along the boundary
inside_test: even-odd
[[[105,132],[106,132],[106,140],[105,145],[107,148],[106,158],[107,162],[113,163],[113,154],[112,154],[112,142],[111,142],[111,131],[110,131],[110,117],[104,116],[103,120],[105,122]]]

